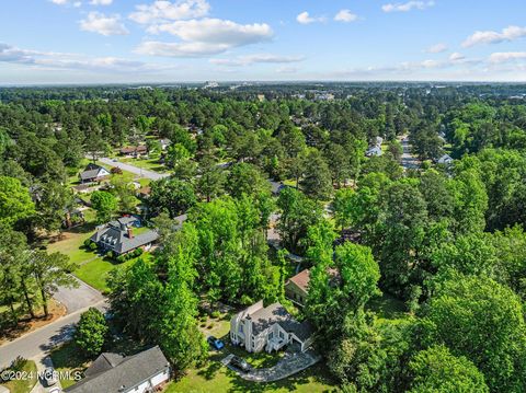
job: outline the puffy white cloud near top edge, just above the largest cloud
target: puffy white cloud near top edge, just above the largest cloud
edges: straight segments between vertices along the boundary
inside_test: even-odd
[[[136,5],[136,11],[129,14],[129,19],[140,23],[161,23],[165,21],[180,21],[192,18],[206,16],[210,11],[210,4],[206,0],[158,0],[152,4]]]

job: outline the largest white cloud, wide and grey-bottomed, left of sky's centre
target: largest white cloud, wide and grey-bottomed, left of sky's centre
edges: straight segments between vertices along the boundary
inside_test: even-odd
[[[220,19],[176,21],[148,27],[150,34],[169,33],[176,43],[148,41],[136,53],[152,56],[198,57],[216,55],[230,48],[270,41],[274,33],[266,23],[239,24]]]

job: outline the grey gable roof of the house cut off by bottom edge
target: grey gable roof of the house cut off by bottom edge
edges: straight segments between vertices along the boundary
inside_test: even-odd
[[[159,346],[155,346],[134,356],[122,358],[121,361],[117,360],[118,355],[111,355],[110,361],[107,360],[107,354],[103,354],[93,362],[93,365],[103,363],[107,367],[106,369],[100,372],[90,372],[90,367],[87,370],[87,377],[75,385],[66,389],[66,392],[128,392],[151,377],[169,370],[168,360]],[[100,360],[101,357],[104,358]],[[112,360],[118,362],[112,366]]]

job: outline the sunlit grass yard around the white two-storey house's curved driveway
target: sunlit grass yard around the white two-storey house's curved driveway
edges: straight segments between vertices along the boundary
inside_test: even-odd
[[[218,319],[199,319],[199,330],[205,335],[214,335],[225,343],[221,351],[210,350],[208,362],[199,368],[188,370],[181,380],[171,382],[165,393],[208,393],[208,392],[329,392],[336,388],[322,365],[313,366],[296,375],[272,383],[249,382],[219,361],[228,354],[247,359],[254,367],[272,367],[283,352],[250,354],[239,347],[231,346],[229,339],[230,315],[221,314]]]

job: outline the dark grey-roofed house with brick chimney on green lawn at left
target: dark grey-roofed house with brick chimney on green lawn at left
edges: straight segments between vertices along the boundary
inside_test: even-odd
[[[112,251],[115,256],[127,254],[138,247],[148,248],[159,239],[157,231],[146,231],[134,235],[137,218],[122,217],[115,221],[98,227],[90,240],[104,252]]]

